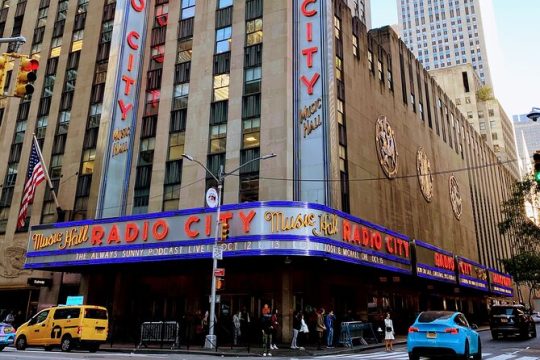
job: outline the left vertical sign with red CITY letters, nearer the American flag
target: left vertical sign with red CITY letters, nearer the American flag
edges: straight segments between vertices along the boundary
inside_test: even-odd
[[[117,0],[98,147],[103,149],[96,217],[126,213],[127,188],[139,103],[146,0]],[[103,128],[103,130],[101,129]]]

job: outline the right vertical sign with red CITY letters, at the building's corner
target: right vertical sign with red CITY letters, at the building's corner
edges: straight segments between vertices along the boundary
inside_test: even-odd
[[[295,199],[329,205],[328,118],[333,67],[327,61],[331,1],[296,0],[294,71]],[[306,181],[309,180],[309,181]],[[315,181],[314,181],[315,180]]]

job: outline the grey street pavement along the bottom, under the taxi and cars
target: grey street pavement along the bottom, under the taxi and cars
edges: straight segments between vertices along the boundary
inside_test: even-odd
[[[480,333],[482,338],[483,359],[484,360],[540,360],[540,338],[531,340],[505,339],[491,340],[491,333],[483,331]],[[295,356],[287,355],[287,350],[280,349],[274,352],[273,359],[294,359],[294,360],[314,360],[314,359],[365,359],[365,360],[408,360],[407,350],[405,345],[394,347],[393,352],[385,352],[384,349],[375,349],[372,351],[363,351],[357,353],[334,354],[322,356]],[[255,354],[251,357],[241,357],[241,359],[261,359],[262,354]],[[213,355],[192,355],[192,354],[132,354],[132,353],[113,353],[106,351],[98,351],[91,354],[87,351],[73,351],[71,353],[63,353],[59,350],[44,351],[40,348],[28,349],[26,351],[17,351],[14,348],[6,348],[0,352],[0,360],[17,359],[17,360],[71,360],[71,359],[105,359],[105,360],[202,360],[216,359]]]

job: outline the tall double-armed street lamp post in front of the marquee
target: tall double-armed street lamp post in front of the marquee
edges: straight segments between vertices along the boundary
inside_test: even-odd
[[[204,347],[207,349],[214,349],[217,345],[217,336],[215,334],[215,322],[216,322],[216,269],[217,269],[217,261],[218,257],[221,257],[219,254],[218,249],[218,236],[219,236],[219,225],[221,224],[220,216],[221,216],[221,197],[223,193],[223,181],[225,178],[231,174],[234,174],[241,168],[243,168],[246,165],[249,165],[255,161],[259,160],[266,160],[273,157],[276,157],[277,155],[272,153],[264,156],[260,156],[256,159],[251,159],[249,161],[246,161],[245,163],[241,164],[236,169],[225,172],[223,165],[219,166],[219,172],[218,176],[214,175],[203,163],[201,163],[199,160],[195,159],[193,156],[188,154],[182,154],[182,157],[186,160],[193,161],[194,163],[197,163],[199,166],[201,166],[206,172],[216,180],[218,184],[218,198],[217,198],[217,214],[216,214],[216,227],[215,227],[215,235],[214,235],[214,246],[212,248],[212,287],[210,288],[210,319],[209,319],[209,329],[208,329],[208,335],[206,335],[206,340],[204,342]]]

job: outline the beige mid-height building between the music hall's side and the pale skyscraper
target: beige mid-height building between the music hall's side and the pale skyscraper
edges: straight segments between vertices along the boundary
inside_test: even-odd
[[[471,64],[432,70],[441,88],[493,149],[497,158],[519,176],[512,121],[489,87],[482,86]]]

